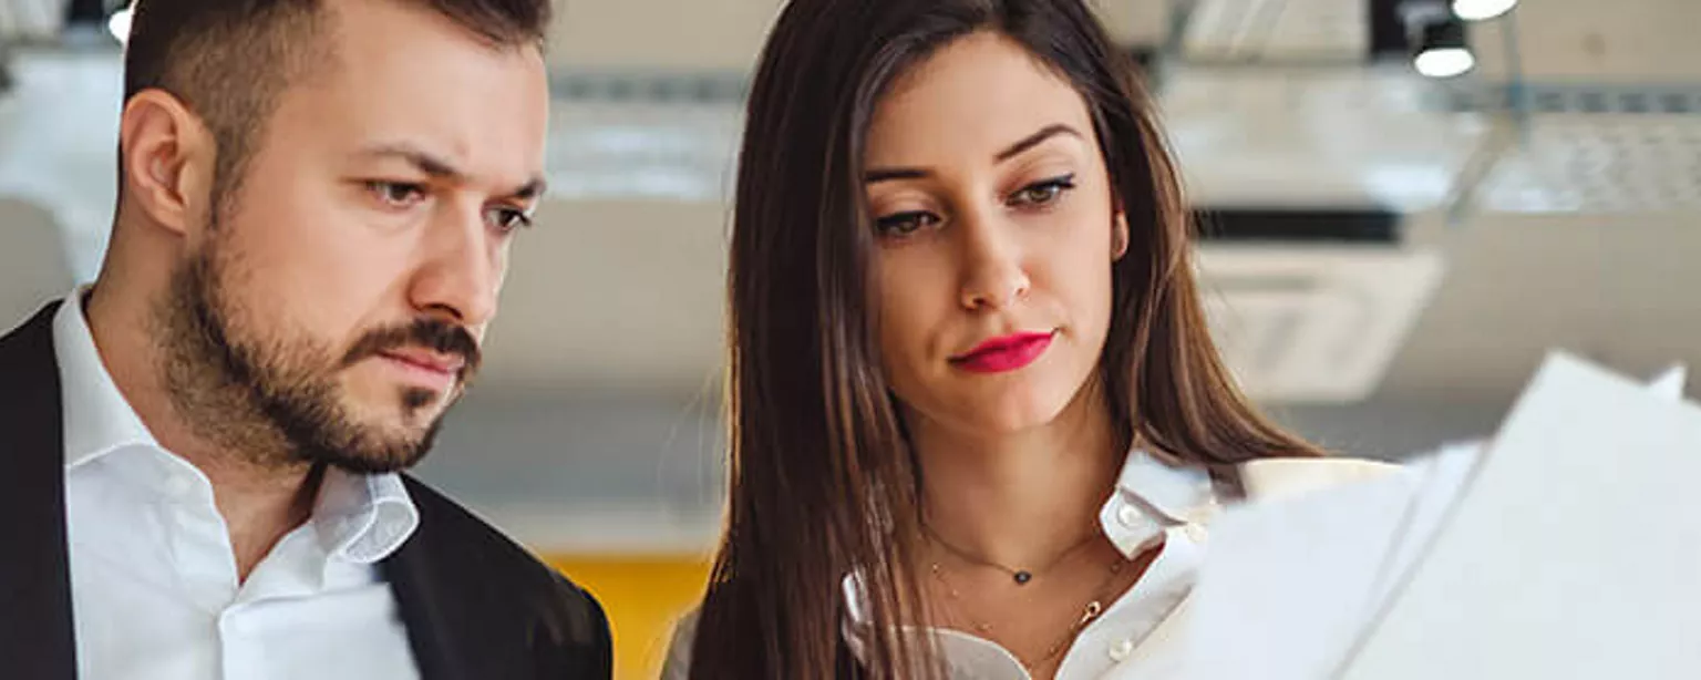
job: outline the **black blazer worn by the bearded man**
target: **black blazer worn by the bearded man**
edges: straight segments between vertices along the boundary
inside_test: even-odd
[[[0,675],[10,680],[77,677],[56,309],[0,337]],[[454,502],[405,481],[420,524],[381,573],[424,680],[612,675],[595,598]]]

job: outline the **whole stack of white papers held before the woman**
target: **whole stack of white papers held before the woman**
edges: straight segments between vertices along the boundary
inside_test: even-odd
[[[1213,529],[1189,678],[1701,678],[1701,408],[1551,357],[1495,439]]]

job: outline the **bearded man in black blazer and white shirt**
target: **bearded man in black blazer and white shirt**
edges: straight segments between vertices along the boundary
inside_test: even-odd
[[[0,338],[0,675],[606,678],[400,474],[541,194],[546,0],[143,0],[100,275]]]

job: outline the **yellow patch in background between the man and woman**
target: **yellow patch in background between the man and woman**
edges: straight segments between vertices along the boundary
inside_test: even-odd
[[[614,678],[655,680],[674,622],[696,607],[709,576],[703,554],[546,558],[602,604],[614,627]]]

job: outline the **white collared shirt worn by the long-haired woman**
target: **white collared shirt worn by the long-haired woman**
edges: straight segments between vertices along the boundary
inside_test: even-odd
[[[1242,468],[1249,496],[1284,496],[1354,479],[1383,464],[1351,459],[1289,459]],[[1158,556],[1104,614],[1075,638],[1056,680],[1177,680],[1186,677],[1189,595],[1206,558],[1204,527],[1221,512],[1213,483],[1198,469],[1172,468],[1152,456],[1128,454],[1116,493],[1099,512],[1104,536],[1133,559],[1162,539]],[[854,654],[869,632],[866,598],[854,576],[844,581],[842,632]],[[951,680],[1031,680],[1022,663],[1000,644],[951,629],[907,629],[939,641]],[[684,680],[691,666],[696,612],[680,620],[668,651],[665,680]]]

